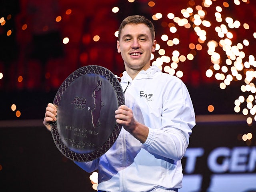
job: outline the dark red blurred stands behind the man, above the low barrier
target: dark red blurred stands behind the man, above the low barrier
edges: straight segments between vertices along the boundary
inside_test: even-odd
[[[219,84],[222,81],[214,78],[219,71],[214,71],[211,78],[205,75],[206,70],[213,65],[207,54],[207,42],[220,41],[215,27],[226,24],[226,17],[238,20],[241,26],[229,30],[234,36],[234,45],[242,43],[244,39],[250,42],[249,46],[242,49],[246,54],[244,62],[248,61],[248,56],[254,55],[256,48],[253,37],[256,31],[256,2],[240,0],[240,5],[235,5],[233,0],[215,0],[209,8],[203,7],[206,11],[204,19],[211,22],[210,28],[200,26],[207,32],[207,40],[204,43],[198,42],[198,36],[192,26],[189,29],[180,27],[167,18],[170,12],[183,18],[182,9],[202,6],[202,0],[157,0],[153,7],[148,6],[148,2],[2,0],[0,16],[5,18],[6,23],[0,26],[0,72],[3,74],[3,78],[0,79],[0,120],[43,118],[45,107],[48,102],[53,101],[59,86],[72,72],[82,66],[100,65],[120,76],[124,64],[116,51],[117,38],[114,36],[120,22],[132,14],[142,14],[151,19],[152,15],[158,12],[162,13],[163,17],[153,20],[153,23],[156,27],[156,40],[160,48],[166,51],[165,55],[172,57],[174,50],[178,50],[180,55],[194,54],[193,60],[179,62],[176,71],[181,70],[184,74],[181,79],[190,91],[196,115],[235,114],[234,100],[240,95],[246,97],[249,94],[240,90],[240,86],[245,84],[246,70],[241,72],[241,81],[234,78],[226,89],[220,89]],[[229,4],[227,8],[223,6],[224,2]],[[111,11],[114,6],[119,7],[119,12]],[[216,21],[216,6],[222,7],[220,13],[223,22]],[[71,14],[66,14],[68,9],[72,10]],[[8,15],[11,15],[11,18],[7,19]],[[57,16],[62,17],[60,22],[55,21]],[[170,33],[167,26],[170,23],[175,24],[177,28],[174,34]],[[249,24],[248,30],[243,28],[244,23]],[[24,24],[27,28],[22,30]],[[8,30],[12,30],[10,36],[6,35]],[[162,34],[167,34],[169,39],[178,38],[180,44],[167,46],[166,42],[161,40]],[[92,40],[95,35],[100,36],[98,42]],[[62,43],[64,37],[69,38],[68,44]],[[201,44],[202,50],[191,50],[188,47],[190,43]],[[220,46],[216,51],[221,54],[220,66],[225,66],[226,54]],[[160,57],[157,51],[154,55],[154,60]],[[164,63],[163,67],[165,65],[170,63]],[[228,66],[229,69],[230,67]],[[254,66],[250,69],[254,70]],[[229,70],[227,74],[230,73]],[[18,82],[19,76],[23,78],[21,82]],[[16,110],[21,112],[19,118],[10,110],[12,104],[16,104]],[[214,106],[213,112],[207,110],[208,105]]]

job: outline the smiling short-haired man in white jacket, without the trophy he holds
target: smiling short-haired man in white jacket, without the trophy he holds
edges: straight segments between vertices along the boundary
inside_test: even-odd
[[[75,162],[87,172],[98,170],[99,192],[177,192],[182,187],[181,158],[195,125],[190,95],[176,76],[151,66],[154,26],[144,16],[128,16],[119,28],[117,51],[124,60],[121,79],[126,105],[115,111],[122,130],[100,158]],[[44,125],[56,120],[53,104]]]

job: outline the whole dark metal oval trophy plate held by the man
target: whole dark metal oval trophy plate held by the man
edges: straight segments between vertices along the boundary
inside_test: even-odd
[[[79,68],[62,83],[53,104],[58,112],[52,137],[68,159],[95,160],[116,141],[122,126],[116,123],[115,110],[125,100],[110,70],[97,65]]]

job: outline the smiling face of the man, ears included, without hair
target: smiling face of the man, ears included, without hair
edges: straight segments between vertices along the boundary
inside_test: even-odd
[[[117,41],[117,50],[122,55],[126,71],[147,70],[155,48],[156,40],[152,40],[150,30],[145,24],[127,24]]]

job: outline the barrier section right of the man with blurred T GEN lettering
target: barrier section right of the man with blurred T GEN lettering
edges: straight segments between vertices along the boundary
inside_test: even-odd
[[[239,116],[226,119],[230,116],[197,122],[182,159],[179,192],[256,192],[255,138],[242,140],[244,134],[255,135],[255,128]]]

